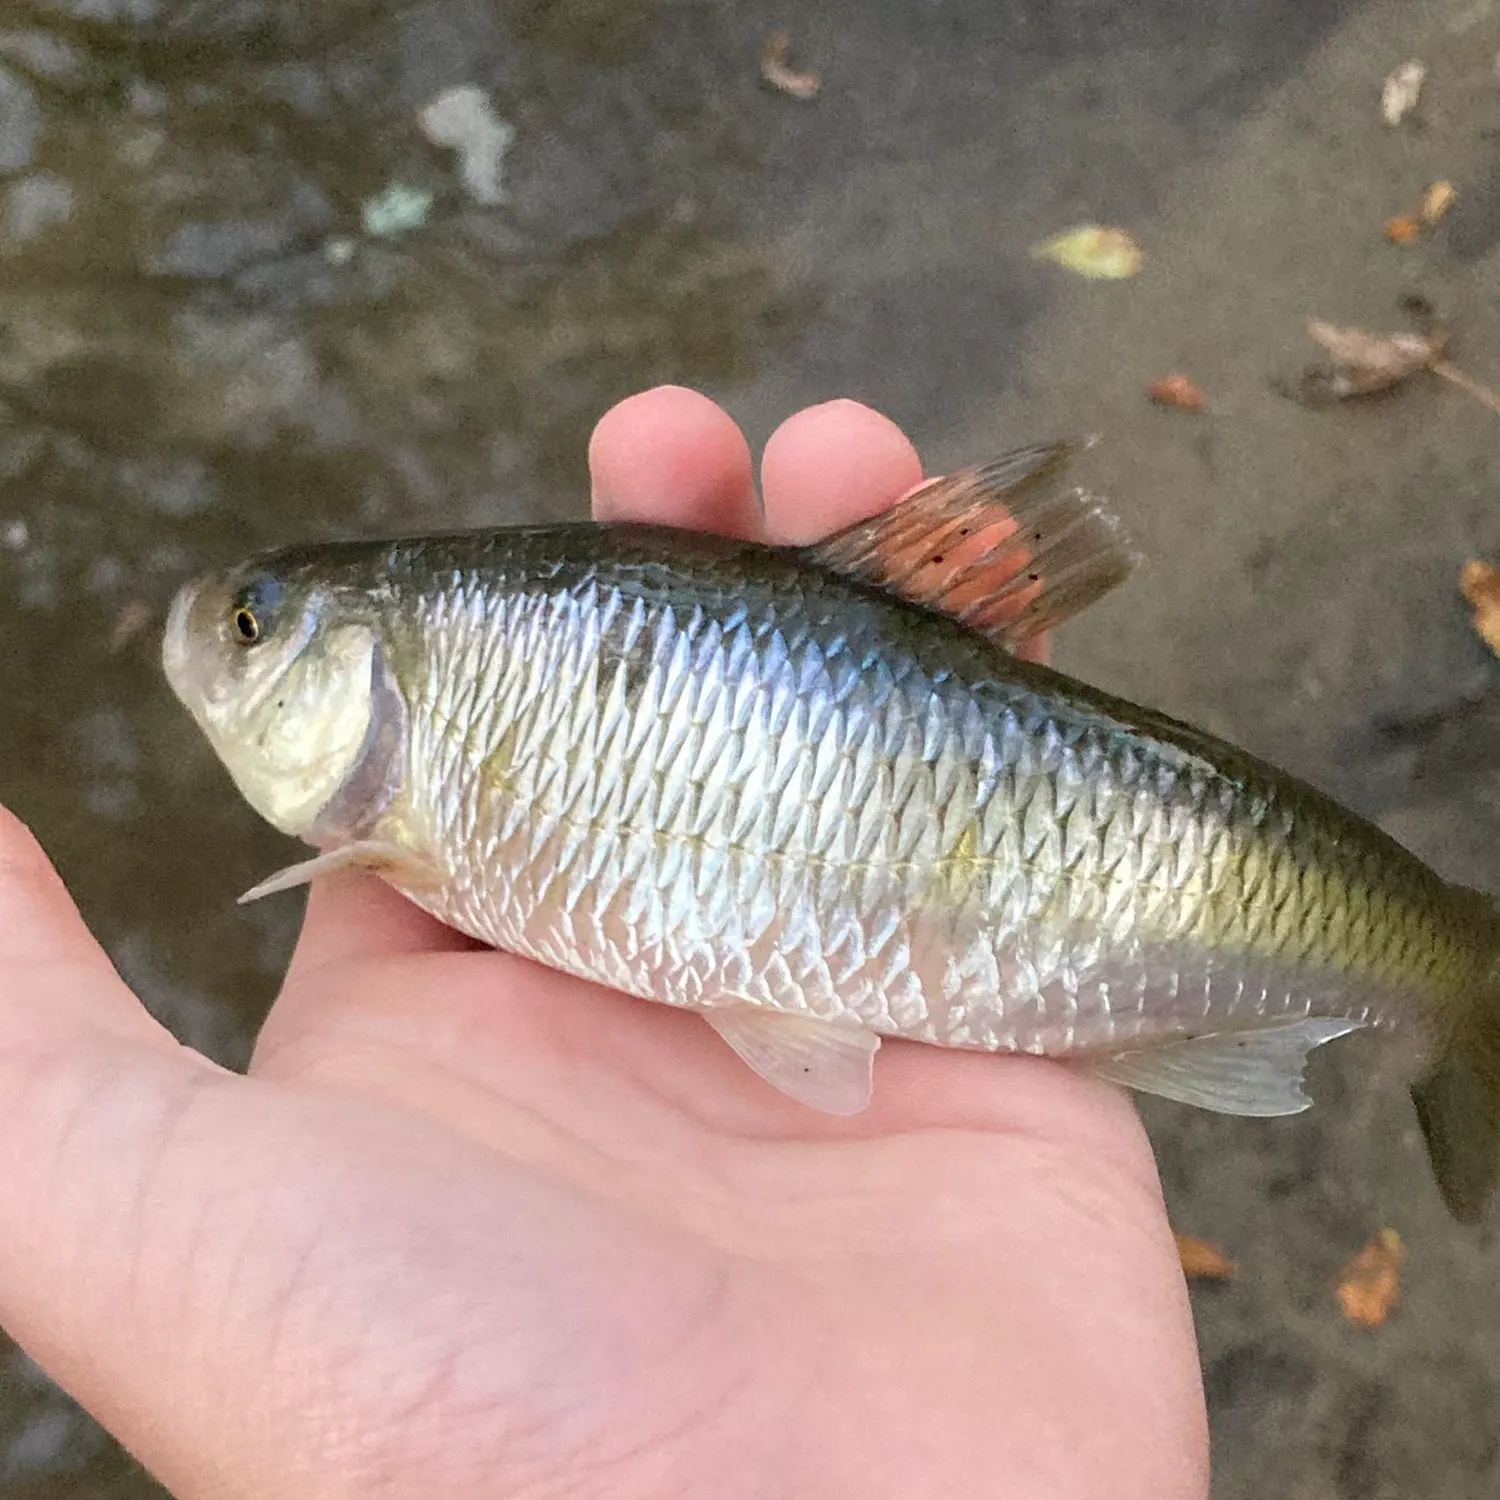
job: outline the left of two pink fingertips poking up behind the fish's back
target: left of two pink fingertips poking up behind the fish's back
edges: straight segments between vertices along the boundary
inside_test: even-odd
[[[706,396],[658,386],[610,408],[588,444],[596,520],[760,534],[750,446]]]

